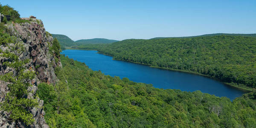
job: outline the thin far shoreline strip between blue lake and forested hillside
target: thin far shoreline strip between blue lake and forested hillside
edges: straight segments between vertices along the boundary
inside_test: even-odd
[[[108,56],[111,56],[113,57],[113,55],[109,55],[109,54],[105,54],[105,53],[102,53],[102,52],[99,52],[97,49],[71,49],[71,50],[87,50],[87,51],[97,51],[96,53],[98,54],[102,54],[102,55],[108,55]],[[121,60],[121,59],[114,59],[112,58],[113,60],[117,60],[117,61],[125,61],[125,60]],[[230,83],[227,83],[227,82],[222,82],[220,81],[219,79],[217,78],[213,78],[211,76],[207,76],[207,75],[204,75],[204,74],[201,74],[201,73],[196,73],[196,72],[191,72],[191,71],[186,71],[186,70],[178,70],[178,69],[170,69],[170,68],[166,68],[166,67],[157,67],[157,66],[151,66],[150,64],[144,64],[144,63],[138,63],[138,62],[133,62],[133,61],[126,61],[126,62],[130,62],[130,63],[134,63],[134,64],[143,64],[143,65],[147,65],[149,67],[152,67],[152,68],[159,68],[159,69],[164,69],[164,70],[171,70],[171,71],[177,71],[177,72],[183,72],[183,73],[191,73],[191,74],[195,74],[195,75],[199,75],[199,76],[205,76],[205,77],[208,77],[210,79],[215,79],[225,85],[228,85],[228,86],[231,86],[231,87],[234,87],[236,89],[239,89],[239,90],[244,90],[244,91],[248,91],[248,92],[251,92],[252,89],[251,88],[247,88],[247,87],[238,87],[236,85],[233,85],[233,84],[230,84]]]

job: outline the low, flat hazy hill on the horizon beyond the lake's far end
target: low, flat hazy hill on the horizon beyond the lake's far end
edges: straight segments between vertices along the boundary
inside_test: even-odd
[[[94,38],[94,39],[83,39],[75,41],[77,44],[110,44],[117,42],[116,40],[108,40],[104,38]]]

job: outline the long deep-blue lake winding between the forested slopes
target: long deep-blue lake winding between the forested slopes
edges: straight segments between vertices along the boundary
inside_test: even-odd
[[[92,70],[101,70],[105,75],[119,76],[121,79],[127,77],[131,81],[153,84],[157,88],[179,89],[188,92],[200,90],[215,96],[226,96],[231,100],[246,93],[244,90],[205,76],[112,60],[111,56],[98,54],[97,51],[64,50],[61,54],[84,62]]]

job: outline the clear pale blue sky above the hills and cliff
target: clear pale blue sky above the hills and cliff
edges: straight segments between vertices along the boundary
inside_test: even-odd
[[[89,38],[256,33],[256,0],[1,0],[53,34]]]

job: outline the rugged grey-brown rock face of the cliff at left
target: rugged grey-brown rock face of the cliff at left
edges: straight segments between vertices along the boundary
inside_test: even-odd
[[[55,62],[54,58],[59,58],[49,53],[49,47],[52,45],[52,36],[47,34],[44,29],[44,25],[41,20],[35,18],[23,18],[26,20],[32,20],[30,23],[12,23],[6,24],[5,26],[9,30],[9,33],[17,37],[16,42],[21,42],[20,44],[24,46],[24,51],[20,54],[16,51],[12,51],[9,46],[0,46],[2,50],[9,50],[19,56],[20,60],[29,58],[31,61],[26,64],[26,68],[34,70],[36,73],[35,79],[30,81],[32,87],[32,93],[29,93],[28,97],[33,97],[38,89],[37,85],[41,82],[46,82],[48,84],[55,84],[58,81],[55,76],[55,67],[62,67],[61,62]],[[60,60],[60,59],[58,59]],[[0,57],[0,75],[5,73],[14,72],[14,70],[9,69],[3,65],[3,62],[7,61],[6,58]],[[0,102],[5,99],[6,93],[8,92],[7,83],[5,81],[0,81]],[[44,101],[38,100],[38,108],[31,108],[29,111],[33,114],[35,119],[34,124],[25,125],[22,122],[12,122],[9,120],[9,114],[0,111],[0,127],[2,128],[48,128],[44,120]]]

